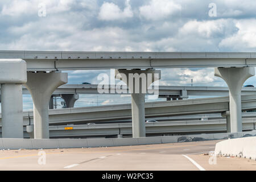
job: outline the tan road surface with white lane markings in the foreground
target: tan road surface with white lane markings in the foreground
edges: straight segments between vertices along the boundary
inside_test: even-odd
[[[207,155],[217,142],[0,150],[0,170],[256,170],[255,160]]]

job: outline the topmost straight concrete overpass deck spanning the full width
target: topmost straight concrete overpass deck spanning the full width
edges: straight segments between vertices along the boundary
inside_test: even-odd
[[[255,67],[255,52],[66,52],[0,51],[0,59],[23,59],[27,71]]]

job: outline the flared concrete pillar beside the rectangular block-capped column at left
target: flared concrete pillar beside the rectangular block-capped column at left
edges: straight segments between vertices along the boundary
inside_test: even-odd
[[[68,73],[27,73],[25,86],[34,106],[34,138],[49,138],[49,100],[60,85],[68,82]]]

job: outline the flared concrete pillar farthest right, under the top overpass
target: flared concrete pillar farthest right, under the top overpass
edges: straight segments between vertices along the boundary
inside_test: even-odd
[[[230,132],[242,131],[241,89],[247,78],[254,76],[254,67],[214,68],[214,75],[221,77],[229,87]]]

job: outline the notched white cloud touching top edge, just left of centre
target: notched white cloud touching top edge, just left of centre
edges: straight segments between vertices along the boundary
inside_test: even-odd
[[[126,7],[122,11],[114,3],[104,2],[100,7],[100,13],[98,19],[100,20],[123,20],[133,17],[133,11],[131,10],[130,0],[126,0]]]

